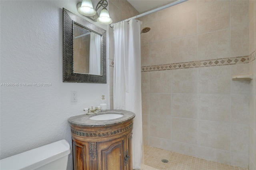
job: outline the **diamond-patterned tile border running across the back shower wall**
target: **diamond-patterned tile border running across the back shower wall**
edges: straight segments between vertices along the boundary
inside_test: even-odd
[[[254,53],[254,57],[255,57],[255,53]],[[211,66],[219,66],[219,65],[234,65],[234,64],[244,64],[244,63],[249,63],[249,56],[144,66],[144,67],[141,67],[141,72],[172,70],[172,69],[188,69],[188,68],[197,68],[197,67],[211,67]]]

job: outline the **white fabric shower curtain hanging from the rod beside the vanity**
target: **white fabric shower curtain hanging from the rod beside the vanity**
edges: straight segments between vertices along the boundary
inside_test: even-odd
[[[114,24],[114,109],[136,114],[132,133],[133,168],[139,169],[142,157],[142,109],[140,76],[140,21]]]

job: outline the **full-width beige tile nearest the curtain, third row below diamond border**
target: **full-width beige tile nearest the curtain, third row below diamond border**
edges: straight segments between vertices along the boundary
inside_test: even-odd
[[[150,136],[171,139],[170,118],[164,116],[150,115]]]

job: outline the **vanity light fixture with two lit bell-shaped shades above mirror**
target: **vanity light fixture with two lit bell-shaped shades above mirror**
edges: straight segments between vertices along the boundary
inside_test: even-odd
[[[97,11],[101,6],[103,8],[99,16]],[[100,0],[100,2],[98,2],[96,6],[96,10],[94,10],[91,0],[82,0],[82,2],[76,5],[76,8],[80,14],[86,16],[87,18],[90,18],[95,22],[98,21],[100,24],[111,24],[112,19],[110,18],[108,10],[106,9],[107,6],[108,6],[108,1]]]

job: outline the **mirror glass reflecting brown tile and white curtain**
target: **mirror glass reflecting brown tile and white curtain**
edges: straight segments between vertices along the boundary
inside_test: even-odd
[[[101,75],[101,36],[73,24],[74,73]]]

